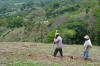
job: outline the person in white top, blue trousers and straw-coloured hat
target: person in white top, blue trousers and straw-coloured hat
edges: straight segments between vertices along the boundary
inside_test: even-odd
[[[85,39],[85,43],[83,49],[83,57],[85,60],[87,60],[89,56],[89,49],[92,48],[92,43],[88,35],[84,36],[84,39]]]

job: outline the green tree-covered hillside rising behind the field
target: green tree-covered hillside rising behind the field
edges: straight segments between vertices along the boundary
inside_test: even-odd
[[[0,41],[52,42],[58,30],[65,44],[82,44],[83,36],[88,34],[95,45],[100,45],[99,0],[0,0],[0,3]],[[12,40],[12,34],[17,38]]]

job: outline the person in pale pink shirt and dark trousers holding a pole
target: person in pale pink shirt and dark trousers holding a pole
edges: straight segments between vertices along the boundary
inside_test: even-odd
[[[59,33],[56,33],[56,36],[54,38],[54,44],[56,44],[56,49],[54,51],[53,56],[56,57],[58,51],[60,52],[61,57],[63,57],[63,52],[62,52],[62,38],[59,35]]]

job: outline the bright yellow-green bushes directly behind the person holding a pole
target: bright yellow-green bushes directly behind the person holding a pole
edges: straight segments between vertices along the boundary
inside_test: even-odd
[[[48,33],[46,37],[46,42],[53,42],[53,39],[55,37],[56,30],[51,31]],[[58,33],[60,33],[60,36],[63,38],[64,43],[72,43],[71,39],[76,35],[75,30],[73,29],[66,29],[61,28]]]

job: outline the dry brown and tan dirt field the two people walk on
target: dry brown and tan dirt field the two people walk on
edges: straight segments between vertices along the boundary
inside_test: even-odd
[[[0,66],[100,66],[98,46],[93,46],[90,50],[88,60],[82,58],[81,45],[63,45],[64,57],[60,57],[59,53],[53,57],[54,49],[53,44],[3,42],[0,43]],[[39,65],[24,65],[26,61]]]

